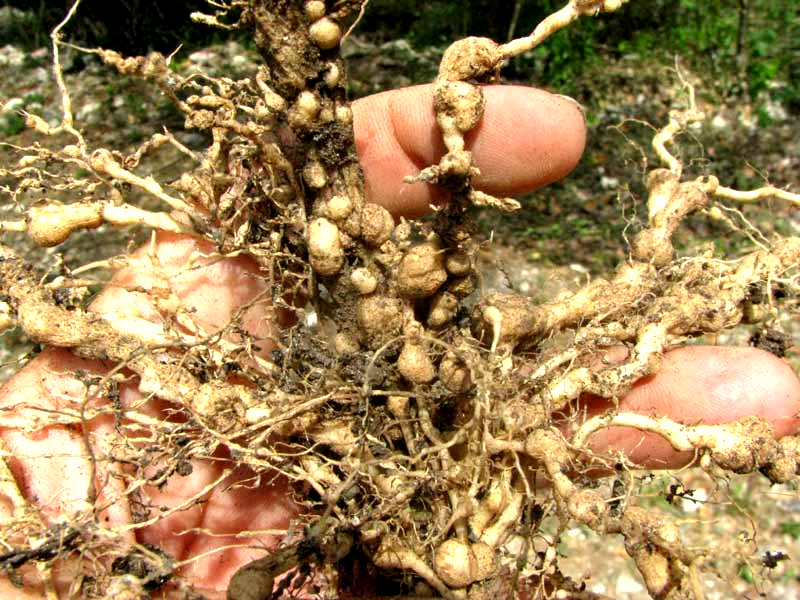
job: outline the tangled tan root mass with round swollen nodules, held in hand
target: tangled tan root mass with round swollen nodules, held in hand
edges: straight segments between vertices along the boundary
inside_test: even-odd
[[[687,215],[712,207],[717,197],[744,194],[715,177],[684,179],[667,146],[702,118],[692,106],[673,113],[654,139],[663,166],[647,176],[648,225],[613,274],[539,304],[477,291],[479,247],[468,209],[517,208],[515,200],[472,186],[476,169],[464,136],[483,114],[481,84],[577,17],[622,3],[571,0],[530,36],[507,44],[483,38],[454,43],[433,88],[447,153],[409,179],[409,185],[441,186],[449,201],[429,218],[399,223],[366,200],[355,153],[338,47],[359,0],[230,0],[216,16],[195,15],[253,32],[264,64],[245,80],[181,80],[158,54],[125,58],[95,51],[121,73],[159,86],[187,127],[208,132],[211,144],[202,153],[169,133],[127,156],[91,151],[72,123],[58,68],[60,27],[54,32],[64,120],[52,127],[29,115],[28,124],[47,136],[71,136],[71,143],[58,152],[23,149],[18,167],[5,171],[17,180],[14,199],[25,215],[4,228],[42,246],[103,223],[137,223],[205,240],[212,258],[255,261],[285,327],[275,332],[272,360],[266,360],[241,326],[241,313],[220,334],[205,332],[169,289],[158,300],[157,326],[109,319],[83,309],[84,283],[77,275],[43,282],[7,247],[0,256],[3,319],[41,343],[114,361],[117,372],[134,374],[143,393],[171,403],[180,419],[148,421],[135,407],[124,411],[125,420],[148,428],[162,449],[159,477],[180,474],[188,458],[224,447],[254,477],[280,472],[296,482],[307,508],[302,531],[242,568],[228,591],[232,600],[299,589],[305,563],[313,563],[315,581],[324,580],[330,596],[337,587],[341,594],[352,589],[355,575],[348,569],[360,568],[420,596],[477,599],[526,590],[589,597],[559,573],[554,547],[542,548],[541,523],[554,515],[563,527],[579,523],[623,536],[654,598],[692,597],[699,593],[703,553],[686,548],[677,526],[638,507],[624,486],[615,487],[614,497],[593,486],[586,476],[592,469],[635,468],[593,453],[593,434],[635,427],[695,452],[710,470],[761,471],[773,482],[796,475],[797,438],[777,441],[756,417],[693,426],[613,410],[588,420],[574,414],[584,394],[621,398],[687,338],[762,322],[775,316],[779,301],[792,305],[796,299],[799,238],[776,239],[731,260],[676,255],[671,240]],[[169,188],[134,174],[145,154],[165,144],[196,162]],[[50,163],[91,175],[59,180],[47,170]],[[120,184],[168,211],[128,204]],[[78,200],[26,205],[43,188]],[[797,201],[772,188],[749,194]],[[134,260],[116,257],[106,266]],[[624,349],[623,358],[599,365],[590,360],[609,346]],[[112,395],[114,386],[109,377],[87,389],[100,397]],[[114,410],[121,409],[91,402],[72,416],[90,420]],[[38,426],[68,416],[66,409],[39,414]],[[121,439],[108,440],[106,448],[94,460],[122,460],[126,453],[133,460],[135,449]],[[4,481],[13,486],[13,478]],[[25,505],[19,492],[16,498]],[[116,539],[81,519],[73,519],[80,528],[61,524],[62,535],[80,531],[86,544],[92,535],[105,536],[106,547]],[[3,527],[6,547],[26,557],[20,565],[59,558],[55,551],[35,552],[31,529]],[[39,540],[53,535],[51,528]],[[113,552],[124,553],[121,546]],[[284,572],[294,575],[279,582]],[[101,574],[93,571],[93,577]]]

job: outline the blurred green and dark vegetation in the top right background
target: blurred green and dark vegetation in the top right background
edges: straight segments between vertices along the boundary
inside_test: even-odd
[[[563,0],[372,0],[361,31],[417,49],[466,35],[505,41],[532,31]],[[574,92],[581,73],[602,61],[676,56],[723,98],[762,92],[800,112],[800,3],[796,0],[631,0],[613,15],[583,19],[515,59],[508,78]]]

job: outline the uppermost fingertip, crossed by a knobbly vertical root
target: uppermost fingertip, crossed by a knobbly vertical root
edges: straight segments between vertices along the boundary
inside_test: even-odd
[[[486,86],[486,110],[467,136],[481,174],[476,187],[521,194],[569,173],[586,140],[583,116],[563,96],[519,86]],[[384,92],[353,104],[356,147],[369,199],[416,217],[442,200],[434,185],[403,183],[444,154],[431,86]]]

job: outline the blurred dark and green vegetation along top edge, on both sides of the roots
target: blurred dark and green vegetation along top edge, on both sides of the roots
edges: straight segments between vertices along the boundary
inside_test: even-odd
[[[4,18],[0,46],[32,50],[48,44],[50,29],[71,2],[0,0],[25,11]],[[404,38],[416,49],[445,47],[467,35],[505,41],[530,32],[564,0],[372,0],[359,33],[372,41]],[[75,42],[128,54],[197,48],[223,32],[193,24],[205,0],[83,0],[70,24]],[[16,14],[16,13],[15,13]],[[583,19],[547,44],[515,59],[509,79],[574,93],[580,76],[602,61],[635,55],[670,62],[676,56],[707,76],[718,97],[764,97],[800,112],[800,2],[797,0],[631,0],[613,15]],[[640,63],[641,64],[641,63]]]

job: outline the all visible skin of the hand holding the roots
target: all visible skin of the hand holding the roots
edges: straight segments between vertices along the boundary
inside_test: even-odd
[[[583,119],[573,103],[530,88],[487,87],[485,93],[485,116],[468,137],[481,170],[476,180],[479,188],[494,195],[519,194],[573,169],[585,142]],[[425,106],[428,108],[422,110]],[[355,103],[353,112],[370,200],[385,205],[395,215],[407,216],[423,214],[431,203],[440,202],[442,197],[433,186],[402,182],[404,176],[436,163],[443,153],[430,88],[373,96]],[[266,289],[257,267],[246,258],[208,262],[187,271],[185,265],[197,250],[211,248],[185,236],[159,233],[153,248],[137,252],[138,266],[118,272],[92,310],[106,315],[123,312],[158,322],[158,310],[147,290],[166,283],[182,305],[193,311],[196,322],[213,331]],[[168,274],[166,279],[153,274],[150,267],[154,265]],[[270,307],[258,302],[243,315],[248,332],[265,340],[262,353],[268,351],[266,340],[276,327],[271,315]],[[104,434],[110,433],[114,424],[106,417],[89,422],[84,432],[67,426],[22,431],[25,419],[34,414],[28,407],[79,405],[84,388],[75,372],[103,375],[111,367],[77,358],[67,350],[49,348],[0,390],[0,407],[6,409],[0,413],[0,435],[14,456],[8,462],[20,489],[39,507],[46,522],[85,508],[91,474],[84,433],[99,455]],[[163,416],[168,408],[160,400],[142,399],[134,384],[122,386],[123,406],[140,401],[144,402],[141,410],[154,417]],[[593,401],[594,410],[603,406],[601,401]],[[752,348],[686,348],[668,353],[658,375],[639,382],[621,401],[621,409],[691,423],[722,423],[759,415],[770,420],[776,435],[782,436],[798,430],[794,415],[800,410],[800,382],[783,361]],[[676,466],[687,460],[663,441],[631,430],[600,433],[593,441],[598,450],[624,450],[637,462],[652,467]],[[190,475],[175,475],[162,488],[148,489],[151,501],[163,507],[179,506],[232,466],[224,454],[214,461],[192,462]],[[110,476],[118,467],[98,465],[97,503],[111,502],[99,512],[99,519],[107,527],[130,523],[134,507],[122,493],[119,479]],[[226,483],[246,477],[247,472],[238,469]],[[130,529],[126,535],[130,542],[158,546],[177,560],[203,555],[187,562],[181,574],[207,597],[221,598],[231,575],[262,557],[264,549],[279,539],[270,533],[256,538],[238,538],[236,534],[285,529],[298,507],[280,478],[256,488],[219,485],[204,500],[152,525]],[[10,518],[11,510],[8,499],[0,498],[0,518]],[[225,548],[228,546],[238,547]],[[214,549],[219,551],[209,553]],[[0,580],[0,598],[24,598],[26,593],[40,597],[35,590],[26,592]]]

